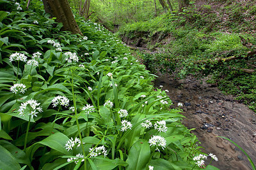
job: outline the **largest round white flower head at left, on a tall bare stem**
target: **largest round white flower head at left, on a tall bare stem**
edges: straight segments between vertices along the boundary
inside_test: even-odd
[[[36,116],[38,112],[42,112],[42,107],[39,106],[40,103],[37,103],[36,100],[30,99],[29,101],[26,101],[25,103],[22,103],[18,112],[20,116],[24,116],[25,113],[28,113],[28,115],[31,115],[31,118]]]

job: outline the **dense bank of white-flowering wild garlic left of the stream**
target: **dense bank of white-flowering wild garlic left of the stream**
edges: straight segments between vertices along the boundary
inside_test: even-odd
[[[113,34],[77,16],[84,36],[61,31],[40,1],[0,3],[0,169],[199,169],[181,110]]]

